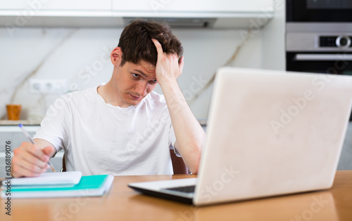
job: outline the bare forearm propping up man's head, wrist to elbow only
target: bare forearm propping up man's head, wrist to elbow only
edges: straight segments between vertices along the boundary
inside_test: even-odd
[[[206,133],[192,114],[177,82],[161,86],[175,130],[176,148],[192,173],[198,172],[201,147]]]

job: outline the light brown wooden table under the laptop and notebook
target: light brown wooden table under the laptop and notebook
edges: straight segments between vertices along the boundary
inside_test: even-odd
[[[11,217],[1,199],[0,220],[352,220],[352,170],[337,171],[332,189],[196,208],[134,192],[129,182],[194,175],[115,177],[103,197],[12,199]]]

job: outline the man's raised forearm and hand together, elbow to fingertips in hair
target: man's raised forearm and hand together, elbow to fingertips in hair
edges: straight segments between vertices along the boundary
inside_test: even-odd
[[[189,109],[177,83],[177,77],[182,74],[184,58],[178,58],[177,54],[163,53],[161,43],[156,39],[151,40],[158,51],[156,79],[163,90],[170,112],[176,135],[175,147],[189,170],[198,173],[201,146],[206,139],[206,133]]]

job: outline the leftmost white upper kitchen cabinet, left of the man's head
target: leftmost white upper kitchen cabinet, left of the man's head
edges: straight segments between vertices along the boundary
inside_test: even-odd
[[[0,27],[103,27],[115,26],[111,0],[18,0],[0,6]]]

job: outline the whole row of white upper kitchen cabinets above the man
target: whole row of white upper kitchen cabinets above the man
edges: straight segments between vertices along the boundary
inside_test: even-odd
[[[178,26],[206,19],[211,25],[201,27],[238,28],[263,26],[274,13],[273,0],[18,0],[1,4],[0,26],[124,27],[134,18],[163,18]]]

